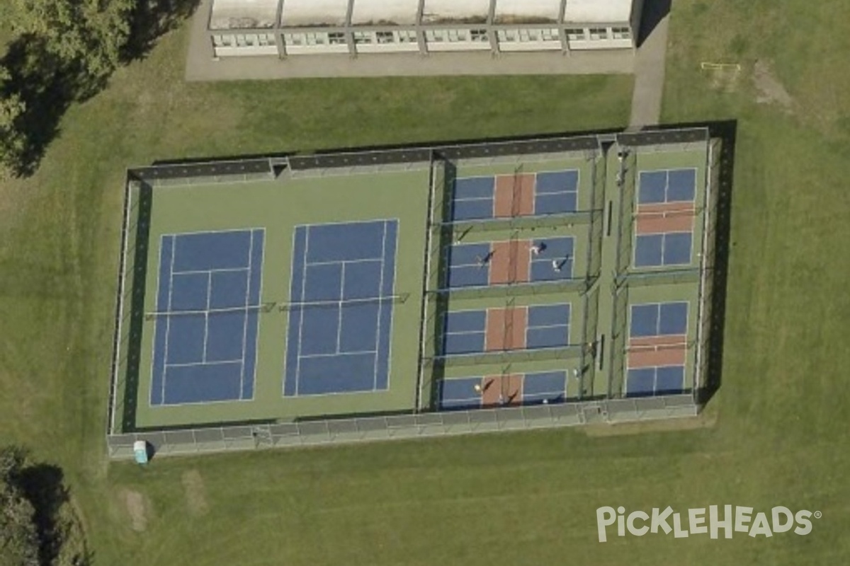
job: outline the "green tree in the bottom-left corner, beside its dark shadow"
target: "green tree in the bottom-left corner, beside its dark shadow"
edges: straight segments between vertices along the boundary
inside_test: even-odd
[[[39,566],[35,509],[20,489],[21,451],[0,450],[0,566]]]

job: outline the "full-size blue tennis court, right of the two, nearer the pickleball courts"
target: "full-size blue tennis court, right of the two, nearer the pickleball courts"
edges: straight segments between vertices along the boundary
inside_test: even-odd
[[[388,388],[398,221],[299,226],[284,395]]]

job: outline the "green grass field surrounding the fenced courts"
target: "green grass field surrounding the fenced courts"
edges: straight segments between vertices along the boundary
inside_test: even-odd
[[[677,0],[664,118],[738,120],[723,385],[694,429],[496,434],[107,465],[121,182],[162,157],[626,123],[623,77],[185,85],[184,32],[0,190],[0,430],[65,470],[104,564],[837,564],[850,553],[850,76],[840,0]],[[719,30],[719,32],[717,32]],[[711,31],[711,32],[710,32]],[[737,79],[700,73],[734,59]],[[756,59],[792,103],[757,103]],[[769,90],[769,89],[768,89]],[[775,94],[775,93],[774,93]],[[350,98],[349,98],[350,97]],[[779,96],[779,99],[785,99]],[[661,429],[658,429],[660,427]],[[643,434],[628,434],[643,431]],[[613,538],[595,509],[820,510],[812,534]]]

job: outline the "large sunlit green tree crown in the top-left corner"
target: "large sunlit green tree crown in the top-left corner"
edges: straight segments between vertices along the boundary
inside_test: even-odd
[[[103,79],[118,66],[133,0],[14,0],[14,28],[37,36],[59,61]]]

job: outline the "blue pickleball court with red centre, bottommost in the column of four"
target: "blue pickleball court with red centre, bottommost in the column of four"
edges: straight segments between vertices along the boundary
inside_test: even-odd
[[[439,387],[439,407],[450,410],[557,403],[564,401],[566,387],[565,371],[445,378]]]

